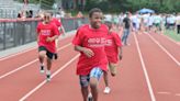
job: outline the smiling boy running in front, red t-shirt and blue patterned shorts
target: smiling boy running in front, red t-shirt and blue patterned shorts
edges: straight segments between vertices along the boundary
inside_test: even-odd
[[[102,24],[102,19],[103,14],[100,9],[90,10],[90,24],[80,26],[72,41],[75,50],[80,53],[77,75],[79,75],[83,101],[87,101],[90,91],[92,100],[98,101],[98,83],[103,71],[108,70],[108,58],[104,50],[108,27]]]

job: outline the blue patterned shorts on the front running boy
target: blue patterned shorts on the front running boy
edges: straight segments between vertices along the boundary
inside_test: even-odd
[[[100,78],[101,78],[102,75],[103,75],[102,69],[100,69],[99,67],[94,67],[90,71],[89,75],[79,76],[80,86],[81,87],[88,87],[89,86],[90,78],[97,78],[98,80],[100,80]]]

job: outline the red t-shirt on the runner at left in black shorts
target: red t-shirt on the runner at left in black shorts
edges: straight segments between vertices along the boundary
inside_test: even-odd
[[[46,42],[47,37],[59,35],[57,26],[53,23],[43,24],[38,23],[36,31],[38,33],[38,46],[45,46],[50,53],[56,53],[55,41]]]

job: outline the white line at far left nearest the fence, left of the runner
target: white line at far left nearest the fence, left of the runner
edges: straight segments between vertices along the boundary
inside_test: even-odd
[[[18,55],[20,55],[20,54],[24,54],[24,53],[30,52],[30,50],[33,50],[33,49],[35,49],[35,48],[37,48],[37,47],[29,48],[29,49],[25,49],[25,50],[18,52],[18,53],[15,53],[15,54],[11,54],[11,55],[9,55],[9,56],[0,57],[0,60],[8,59],[8,58],[11,58],[11,57],[18,56]]]

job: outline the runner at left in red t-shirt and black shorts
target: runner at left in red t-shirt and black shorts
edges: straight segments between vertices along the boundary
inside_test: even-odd
[[[50,23],[52,15],[49,12],[44,13],[43,22],[40,22],[37,31],[38,60],[41,72],[44,72],[44,59],[47,56],[46,80],[50,81],[52,61],[56,53],[55,40],[58,38],[59,32],[54,23]]]

